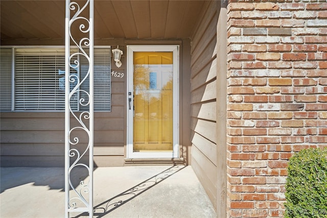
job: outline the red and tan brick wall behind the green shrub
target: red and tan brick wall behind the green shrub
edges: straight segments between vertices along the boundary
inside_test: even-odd
[[[227,26],[228,217],[283,217],[289,158],[327,146],[327,3],[230,1]]]

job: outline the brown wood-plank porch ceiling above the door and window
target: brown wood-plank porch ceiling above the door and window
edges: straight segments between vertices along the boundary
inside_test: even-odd
[[[205,1],[95,0],[95,39],[192,36]],[[64,0],[1,0],[1,40],[63,39]]]

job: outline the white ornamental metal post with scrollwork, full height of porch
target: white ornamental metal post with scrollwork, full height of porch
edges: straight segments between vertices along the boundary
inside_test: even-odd
[[[65,5],[65,217],[70,212],[88,212],[93,217],[94,0],[78,3],[66,0]],[[88,62],[83,78],[81,59]],[[89,89],[83,90],[81,85],[87,81]],[[89,110],[79,112],[80,106]],[[85,178],[78,175],[83,170],[88,174]],[[78,178],[82,179],[75,183]]]

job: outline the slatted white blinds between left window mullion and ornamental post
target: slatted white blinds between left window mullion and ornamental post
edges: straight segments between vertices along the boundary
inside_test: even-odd
[[[65,69],[64,49],[16,49],[15,110],[64,110],[59,69]]]

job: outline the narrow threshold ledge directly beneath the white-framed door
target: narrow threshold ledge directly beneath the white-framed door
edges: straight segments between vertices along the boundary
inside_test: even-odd
[[[125,158],[125,165],[186,165],[184,158]]]

